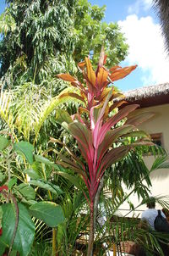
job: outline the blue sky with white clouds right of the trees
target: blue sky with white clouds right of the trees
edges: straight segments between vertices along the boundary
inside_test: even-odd
[[[0,1],[2,13],[5,0]],[[152,0],[90,0],[90,3],[106,5],[105,21],[117,22],[122,28],[129,51],[121,65],[138,64],[131,75],[117,81],[115,86],[127,91],[169,81],[169,57]]]

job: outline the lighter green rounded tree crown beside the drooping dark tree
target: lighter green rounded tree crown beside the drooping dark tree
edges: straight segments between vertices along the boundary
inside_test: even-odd
[[[106,6],[92,6],[87,0],[79,0],[76,7],[75,30],[79,41],[74,50],[76,62],[91,55],[93,64],[101,53],[101,46],[105,47],[106,65],[108,68],[119,64],[128,53],[128,45],[124,42],[123,33],[117,23],[107,24],[105,17]]]

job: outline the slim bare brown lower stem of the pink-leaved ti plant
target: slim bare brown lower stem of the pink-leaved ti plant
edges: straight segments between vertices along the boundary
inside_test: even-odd
[[[88,242],[87,256],[93,256],[94,243],[94,203],[90,203],[90,237]]]

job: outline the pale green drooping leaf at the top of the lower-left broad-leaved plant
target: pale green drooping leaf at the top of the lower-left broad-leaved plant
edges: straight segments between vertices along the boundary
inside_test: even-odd
[[[14,149],[18,153],[24,154],[29,164],[33,164],[34,147],[30,144],[30,142],[17,142],[14,144]]]

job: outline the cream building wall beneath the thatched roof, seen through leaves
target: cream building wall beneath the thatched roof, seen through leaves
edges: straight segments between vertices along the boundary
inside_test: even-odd
[[[162,133],[163,146],[166,149],[166,152],[169,153],[169,104],[145,108],[141,109],[141,111],[153,112],[155,116],[150,120],[144,122],[142,125],[139,125],[139,129],[147,131],[149,134]],[[149,169],[154,160],[154,156],[144,157],[144,162]],[[152,183],[152,187],[150,188],[152,196],[169,197],[169,170],[161,169],[153,171],[150,175],[150,180]],[[134,203],[134,206],[139,205],[139,200],[135,195],[130,197],[130,201]],[[121,213],[126,214],[128,211],[125,211],[123,209],[128,209],[128,203],[124,203],[121,209]],[[144,209],[146,209],[145,206],[139,207],[135,211],[135,214],[140,214]]]

